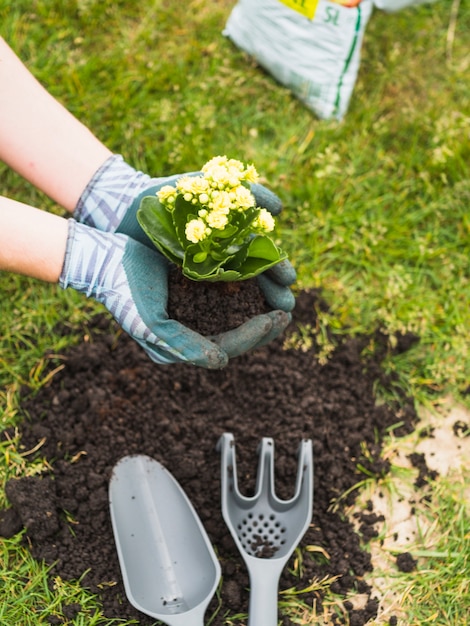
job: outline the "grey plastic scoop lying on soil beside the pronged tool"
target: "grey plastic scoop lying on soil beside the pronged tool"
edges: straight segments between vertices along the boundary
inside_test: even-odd
[[[109,503],[129,602],[170,626],[202,626],[221,571],[180,485],[154,459],[127,456],[113,469]]]

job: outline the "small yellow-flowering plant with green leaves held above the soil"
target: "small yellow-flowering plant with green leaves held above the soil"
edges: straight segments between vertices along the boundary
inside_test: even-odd
[[[193,280],[252,278],[286,258],[268,233],[274,218],[256,206],[253,165],[218,156],[143,198],[137,219],[155,246]]]

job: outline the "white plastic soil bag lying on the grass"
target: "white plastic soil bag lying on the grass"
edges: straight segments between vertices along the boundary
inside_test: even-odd
[[[372,8],[372,0],[238,0],[223,34],[318,117],[341,119]]]

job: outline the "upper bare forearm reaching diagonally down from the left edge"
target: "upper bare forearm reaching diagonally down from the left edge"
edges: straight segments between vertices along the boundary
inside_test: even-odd
[[[111,155],[0,37],[0,159],[68,211]]]

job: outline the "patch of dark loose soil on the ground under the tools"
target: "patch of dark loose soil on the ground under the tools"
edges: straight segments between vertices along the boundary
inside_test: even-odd
[[[287,336],[298,324],[315,328],[320,306],[324,304],[317,293],[302,292]],[[83,577],[82,584],[99,595],[109,618],[153,623],[125,598],[107,500],[114,464],[127,454],[147,454],[181,484],[216,547],[223,582],[221,606],[211,623],[221,626],[224,616],[247,611],[249,583],[221,515],[216,443],[224,432],[233,433],[239,487],[249,495],[258,443],[272,437],[277,495],[286,499],[294,493],[299,442],[311,438],[314,513],[302,545],[316,550],[304,552],[295,574],[292,560],[280,588],[305,589],[312,579],[332,577],[338,594],[369,594],[361,610],[345,603],[351,624],[361,626],[375,616],[377,600],[363,578],[372,569],[371,559],[343,507],[354,500],[351,488],[364,477],[359,466],[367,475],[388,471],[380,458],[384,433],[400,422],[395,433],[403,435],[417,419],[410,399],[402,397],[400,407],[376,401],[376,385],[393,386],[395,397],[400,394],[397,381],[381,368],[388,344],[380,333],[373,341],[341,340],[324,365],[314,338],[302,350],[285,349],[284,337],[233,359],[220,371],[155,365],[107,317],[96,318],[84,338],[63,355],[65,367],[49,384],[22,401],[22,451],[41,444],[37,454],[49,461],[52,471],[7,485],[13,507],[7,515],[9,528],[26,528],[25,542],[35,558],[54,564],[52,575]],[[405,344],[404,339],[398,342],[401,349]],[[56,365],[51,359],[51,368]],[[338,500],[348,490],[348,497]],[[371,535],[374,520],[366,511],[365,535]],[[321,610],[321,591],[301,597]],[[209,611],[217,606],[214,599]],[[341,620],[332,617],[332,623]],[[290,624],[284,617],[283,625]]]

